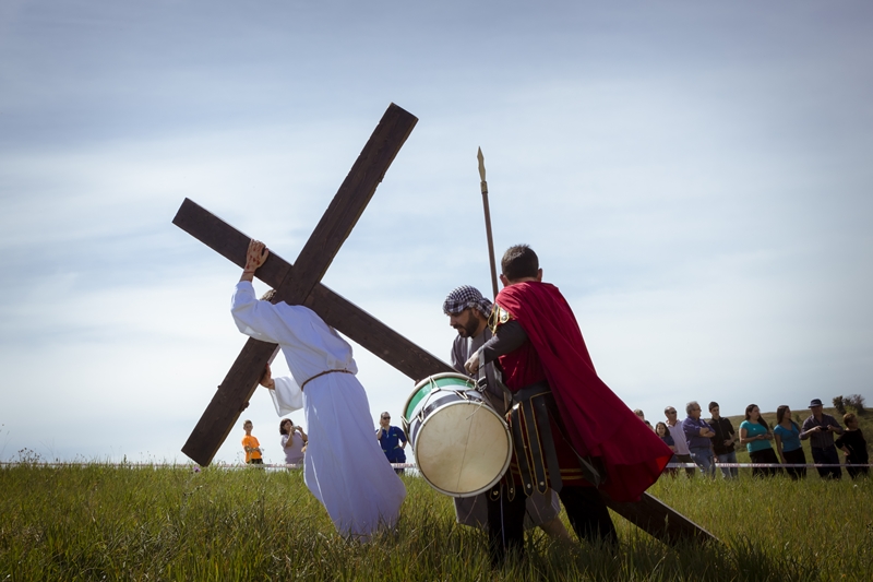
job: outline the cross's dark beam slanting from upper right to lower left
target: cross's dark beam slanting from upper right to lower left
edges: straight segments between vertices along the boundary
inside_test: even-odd
[[[306,301],[351,233],[417,121],[415,116],[391,104],[300,251],[298,268],[291,269],[286,263],[284,276],[275,287],[277,300],[294,305]],[[271,259],[267,259],[267,263]],[[246,343],[182,447],[182,452],[201,465],[212,462],[248,405],[258,380],[276,349],[274,344],[256,340]]]

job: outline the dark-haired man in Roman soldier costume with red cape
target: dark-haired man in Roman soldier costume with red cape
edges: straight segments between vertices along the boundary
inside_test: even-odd
[[[636,501],[658,479],[672,452],[597,377],[573,311],[555,286],[542,283],[534,250],[526,245],[512,247],[501,266],[504,287],[492,312],[494,337],[470,357],[467,370],[475,372],[498,358],[514,401],[525,394],[523,389],[530,393],[530,388],[548,382],[547,390],[551,389],[557,404],[550,408],[548,424],[563,477],[552,486],[579,538],[614,543],[615,530],[606,504],[594,485],[585,480],[579,458],[589,459],[599,468],[600,491],[615,501]],[[542,429],[537,424],[537,432],[542,433]],[[547,447],[543,443],[543,449]],[[548,454],[545,456],[548,463]],[[517,455],[513,470],[516,473]],[[514,477],[517,480],[518,475]],[[524,546],[519,521],[524,519],[524,496],[515,496],[514,487],[504,483],[491,498],[492,559],[500,559],[506,548],[521,550]]]

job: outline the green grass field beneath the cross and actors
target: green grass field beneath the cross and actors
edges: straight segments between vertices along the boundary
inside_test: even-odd
[[[0,580],[868,580],[873,479],[665,478],[650,492],[722,544],[670,549],[615,518],[620,549],[528,535],[491,570],[481,532],[420,478],[396,532],[335,533],[300,472],[105,464],[0,468]]]

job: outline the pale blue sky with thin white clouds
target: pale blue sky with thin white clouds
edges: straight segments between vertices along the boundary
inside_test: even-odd
[[[392,102],[419,123],[324,282],[430,352],[445,294],[490,288],[481,146],[499,252],[537,250],[632,408],[873,400],[871,24],[866,2],[7,0],[0,459],[184,461],[244,337],[238,270],[179,204],[294,260]],[[399,418],[409,381],[356,358]],[[278,461],[265,393],[246,416]]]

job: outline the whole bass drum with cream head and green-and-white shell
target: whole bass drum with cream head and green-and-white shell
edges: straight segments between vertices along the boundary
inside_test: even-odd
[[[418,470],[438,491],[479,495],[510,466],[509,427],[466,376],[447,372],[422,380],[403,409]]]

